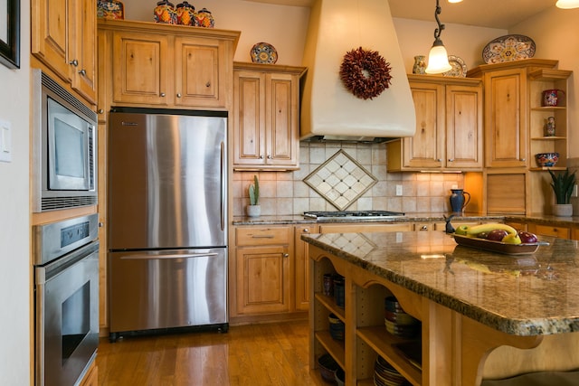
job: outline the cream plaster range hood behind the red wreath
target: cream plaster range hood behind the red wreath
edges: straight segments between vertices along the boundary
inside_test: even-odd
[[[346,52],[362,47],[390,63],[391,85],[359,99],[340,80]],[[315,0],[303,64],[300,138],[381,142],[412,137],[413,97],[387,0]]]

